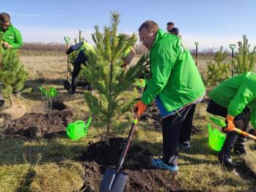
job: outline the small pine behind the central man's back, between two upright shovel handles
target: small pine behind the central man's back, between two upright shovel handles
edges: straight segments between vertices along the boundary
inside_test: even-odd
[[[214,61],[207,62],[206,85],[217,85],[227,79],[230,64],[225,61],[226,58],[227,53],[223,52],[223,47],[220,47],[220,50],[214,55]]]

